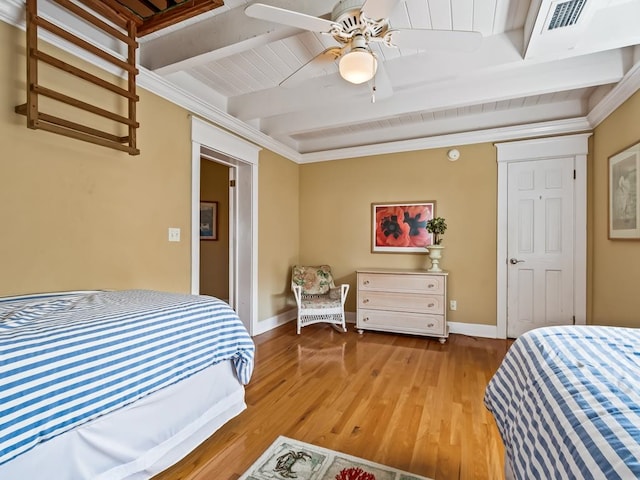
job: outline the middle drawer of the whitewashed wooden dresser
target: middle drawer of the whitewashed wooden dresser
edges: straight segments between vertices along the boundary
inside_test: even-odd
[[[444,295],[364,290],[358,292],[358,308],[443,314],[444,307]]]

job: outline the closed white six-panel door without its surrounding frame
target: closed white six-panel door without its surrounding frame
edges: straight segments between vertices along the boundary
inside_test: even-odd
[[[507,335],[574,322],[574,159],[508,166]]]

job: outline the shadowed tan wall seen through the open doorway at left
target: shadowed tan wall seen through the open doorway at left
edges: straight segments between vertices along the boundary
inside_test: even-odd
[[[218,238],[200,241],[200,293],[229,299],[229,167],[201,160],[200,199],[218,202]]]

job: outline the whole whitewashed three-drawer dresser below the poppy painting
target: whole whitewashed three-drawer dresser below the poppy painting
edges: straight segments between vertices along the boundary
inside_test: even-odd
[[[356,328],[439,337],[449,336],[447,272],[357,270]]]

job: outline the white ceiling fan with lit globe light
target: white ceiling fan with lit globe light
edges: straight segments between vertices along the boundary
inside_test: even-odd
[[[412,49],[448,49],[473,51],[480,45],[482,34],[460,30],[393,29],[389,16],[400,0],[340,0],[331,12],[331,20],[313,17],[283,8],[254,3],[245,9],[253,18],[331,35],[339,46],[330,47],[285,78],[280,85],[296,84],[309,67],[327,61],[338,61],[340,76],[360,84],[381,75],[382,83],[390,82],[371,50],[372,42],[387,47]]]

